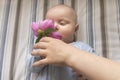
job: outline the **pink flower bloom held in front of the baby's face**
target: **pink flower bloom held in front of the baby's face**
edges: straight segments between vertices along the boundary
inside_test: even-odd
[[[52,20],[39,20],[38,22],[32,22],[31,28],[36,37],[41,39],[44,36],[53,37],[56,39],[61,39],[62,35],[59,32],[56,32],[56,27]],[[38,41],[38,40],[37,40]]]

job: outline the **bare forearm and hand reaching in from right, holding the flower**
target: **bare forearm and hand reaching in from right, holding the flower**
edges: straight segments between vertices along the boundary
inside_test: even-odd
[[[33,56],[44,57],[35,62],[34,66],[68,65],[78,73],[84,73],[92,80],[120,80],[118,74],[120,73],[120,63],[81,51],[61,40],[44,37],[34,45],[34,48],[40,50],[33,51]]]

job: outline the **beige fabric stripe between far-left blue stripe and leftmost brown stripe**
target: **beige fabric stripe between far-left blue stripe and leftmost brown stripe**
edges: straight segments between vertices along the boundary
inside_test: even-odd
[[[16,9],[17,1],[11,1],[9,19],[8,19],[8,28],[7,28],[7,36],[6,36],[6,44],[4,51],[4,64],[2,69],[2,80],[9,80],[10,71],[11,71],[11,60],[12,60],[12,49],[13,49],[13,39],[14,39],[14,29],[15,29],[15,17],[16,17]],[[11,73],[12,74],[12,73]]]

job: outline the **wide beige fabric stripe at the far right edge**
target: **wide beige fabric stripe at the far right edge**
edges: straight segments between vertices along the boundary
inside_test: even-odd
[[[111,6],[111,7],[110,7]],[[117,59],[120,55],[120,41],[117,25],[117,8],[116,0],[106,0],[106,28],[107,28],[107,43],[108,43],[108,57],[110,59]],[[114,14],[114,15],[113,15]],[[120,24],[120,23],[119,23]],[[119,56],[118,56],[119,57]]]

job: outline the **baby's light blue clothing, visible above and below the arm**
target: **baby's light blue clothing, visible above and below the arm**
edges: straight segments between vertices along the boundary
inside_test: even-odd
[[[70,43],[70,45],[99,56],[93,48],[83,42],[76,41]],[[40,59],[40,57],[33,57],[28,54],[26,59],[28,69],[26,80],[78,80],[73,69],[67,66],[43,65],[33,67],[32,64]]]

